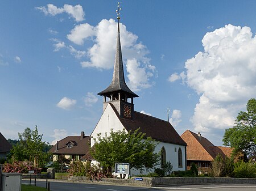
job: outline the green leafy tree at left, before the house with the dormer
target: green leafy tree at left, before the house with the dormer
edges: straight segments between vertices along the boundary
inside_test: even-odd
[[[18,133],[19,140],[10,151],[9,162],[38,160],[39,167],[43,167],[49,160],[50,154],[44,152],[46,142],[42,141],[43,134],[38,133],[38,127],[35,130],[26,128],[23,133]]]

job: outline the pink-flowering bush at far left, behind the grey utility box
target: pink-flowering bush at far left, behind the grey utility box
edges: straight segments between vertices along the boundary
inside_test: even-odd
[[[28,173],[28,171],[34,171],[35,173],[41,173],[41,168],[34,166],[32,162],[27,161],[15,161],[13,163],[3,164],[3,172],[17,172]]]

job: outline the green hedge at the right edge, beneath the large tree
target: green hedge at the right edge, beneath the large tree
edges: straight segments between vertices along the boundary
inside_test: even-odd
[[[234,164],[234,177],[237,178],[256,178],[256,163],[243,161]]]

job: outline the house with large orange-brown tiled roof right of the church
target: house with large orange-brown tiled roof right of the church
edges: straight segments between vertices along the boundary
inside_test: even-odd
[[[201,136],[201,133],[193,133],[186,130],[181,138],[187,143],[187,169],[190,169],[192,163],[199,167],[199,171],[207,172],[210,162],[220,154],[222,158],[230,157],[232,148],[214,146],[207,138]]]

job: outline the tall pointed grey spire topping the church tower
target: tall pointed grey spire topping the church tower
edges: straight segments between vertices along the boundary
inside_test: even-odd
[[[123,60],[122,60],[122,50],[121,50],[121,41],[120,41],[120,27],[119,27],[119,20],[120,20],[120,11],[121,7],[118,3],[118,10],[117,10],[117,19],[118,19],[118,29],[117,29],[117,49],[115,52],[115,63],[114,63],[114,71],[113,71],[113,78],[112,82],[108,88],[104,91],[98,93],[98,95],[108,96],[111,92],[123,91],[126,92],[129,97],[138,97],[138,95],[134,94],[133,91],[125,83],[125,75],[123,73]]]

